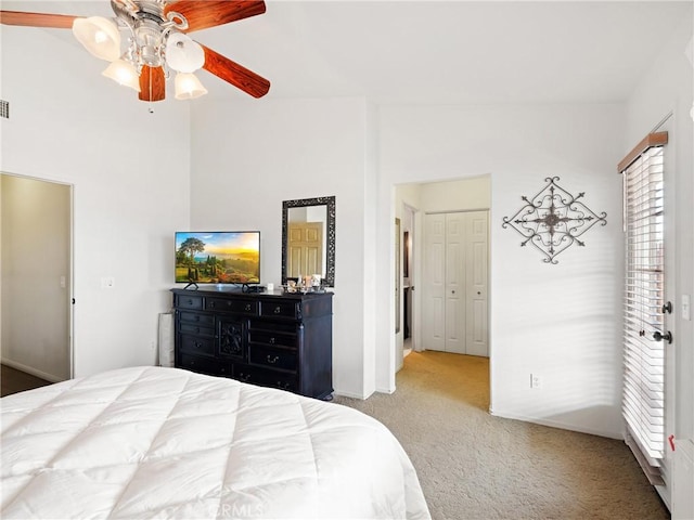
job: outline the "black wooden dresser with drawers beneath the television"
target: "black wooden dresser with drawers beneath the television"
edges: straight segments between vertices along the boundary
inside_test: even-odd
[[[171,292],[177,367],[332,398],[332,292]]]

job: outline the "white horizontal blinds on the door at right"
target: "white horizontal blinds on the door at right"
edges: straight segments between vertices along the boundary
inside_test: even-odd
[[[665,325],[660,141],[646,143],[621,170],[626,253],[622,412],[627,444],[654,485],[663,484],[665,451],[665,341],[658,339]]]

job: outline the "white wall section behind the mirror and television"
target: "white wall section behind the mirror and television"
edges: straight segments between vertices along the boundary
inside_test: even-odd
[[[262,283],[281,283],[282,202],[336,197],[333,386],[358,396],[373,392],[374,365],[364,315],[369,117],[358,99],[209,102],[191,128],[191,227],[260,230]]]

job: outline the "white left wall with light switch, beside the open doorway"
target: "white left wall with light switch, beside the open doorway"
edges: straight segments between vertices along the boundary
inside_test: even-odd
[[[52,32],[2,26],[0,171],[74,186],[74,375],[154,364],[174,231],[189,221],[189,107],[150,114],[101,76],[104,62]]]

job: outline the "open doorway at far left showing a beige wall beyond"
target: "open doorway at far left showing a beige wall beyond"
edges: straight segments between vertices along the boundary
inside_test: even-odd
[[[0,174],[2,364],[41,379],[72,366],[73,186]]]

